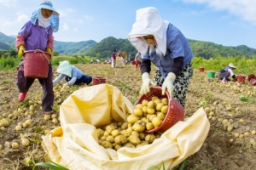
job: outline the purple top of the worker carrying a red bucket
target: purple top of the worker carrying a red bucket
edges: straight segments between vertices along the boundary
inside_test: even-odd
[[[52,28],[38,26],[38,20],[36,25],[33,25],[31,21],[26,22],[18,34],[24,38],[26,50],[40,49],[44,51],[47,48],[49,37],[53,37]]]

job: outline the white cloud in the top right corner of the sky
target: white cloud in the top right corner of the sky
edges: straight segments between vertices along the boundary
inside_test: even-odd
[[[255,0],[183,0],[183,2],[207,4],[215,10],[227,10],[230,14],[256,25]]]

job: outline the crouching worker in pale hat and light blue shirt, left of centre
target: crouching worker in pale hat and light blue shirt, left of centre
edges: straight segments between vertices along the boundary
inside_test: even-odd
[[[60,73],[60,76],[55,78],[53,81],[54,84],[60,82],[63,77],[65,77],[65,80],[67,81],[63,86],[73,86],[74,84],[80,83],[88,85],[92,81],[92,77],[84,75],[84,73],[76,66],[70,65],[67,60],[60,62],[57,72]]]

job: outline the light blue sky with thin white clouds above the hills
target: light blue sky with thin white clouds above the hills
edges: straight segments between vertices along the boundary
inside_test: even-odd
[[[0,32],[16,36],[41,0],[0,0]],[[127,38],[139,8],[154,7],[189,39],[256,48],[256,0],[51,0],[56,41]]]

